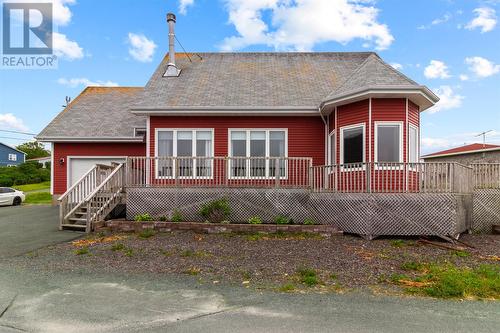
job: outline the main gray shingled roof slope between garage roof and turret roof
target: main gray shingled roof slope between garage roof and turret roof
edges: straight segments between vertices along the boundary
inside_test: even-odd
[[[176,54],[179,77],[156,69],[134,110],[190,107],[316,108],[372,53]]]

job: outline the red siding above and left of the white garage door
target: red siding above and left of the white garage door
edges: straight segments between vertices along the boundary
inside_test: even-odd
[[[54,194],[66,192],[68,156],[145,156],[145,143],[54,143]],[[64,164],[59,160],[64,158]]]

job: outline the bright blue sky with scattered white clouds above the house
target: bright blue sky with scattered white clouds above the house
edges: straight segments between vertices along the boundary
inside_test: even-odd
[[[500,0],[53,2],[58,69],[0,70],[0,129],[38,133],[88,84],[144,85],[168,49],[172,11],[190,52],[376,51],[442,97],[422,114],[424,153],[486,130],[500,144]]]

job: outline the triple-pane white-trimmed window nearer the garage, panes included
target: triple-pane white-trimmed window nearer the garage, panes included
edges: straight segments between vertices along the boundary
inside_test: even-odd
[[[163,129],[155,131],[157,178],[212,178],[213,129]],[[206,158],[205,158],[206,157]]]

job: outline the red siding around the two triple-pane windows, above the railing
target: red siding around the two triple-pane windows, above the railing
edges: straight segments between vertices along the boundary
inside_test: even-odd
[[[155,156],[156,128],[214,129],[215,156],[228,156],[228,130],[237,128],[288,129],[288,156],[325,162],[325,126],[321,117],[166,117],[150,118],[150,156]]]

